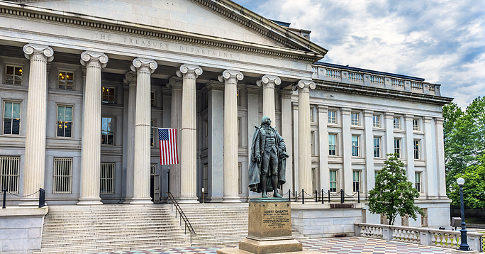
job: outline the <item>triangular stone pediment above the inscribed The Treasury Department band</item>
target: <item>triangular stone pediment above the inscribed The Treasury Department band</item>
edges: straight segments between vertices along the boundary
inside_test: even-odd
[[[19,1],[15,1],[19,2]],[[320,59],[327,50],[230,0],[20,1],[80,17]]]

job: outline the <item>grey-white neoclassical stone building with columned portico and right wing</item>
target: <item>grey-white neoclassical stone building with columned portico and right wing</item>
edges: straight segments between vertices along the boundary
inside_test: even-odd
[[[284,192],[364,199],[398,153],[434,214],[411,224],[447,224],[451,99],[418,77],[318,62],[325,53],[309,31],[230,0],[0,1],[1,187],[44,188],[51,205],[151,204],[168,191],[247,201],[248,147],[267,115],[290,155]],[[179,130],[179,165],[160,165],[153,126]],[[379,223],[367,209],[362,219]]]

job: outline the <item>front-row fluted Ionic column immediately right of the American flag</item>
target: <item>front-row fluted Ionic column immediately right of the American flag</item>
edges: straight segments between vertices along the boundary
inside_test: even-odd
[[[177,76],[183,77],[182,87],[182,145],[180,153],[180,201],[199,203],[196,192],[197,176],[197,112],[196,78],[202,74],[197,65],[181,65]]]

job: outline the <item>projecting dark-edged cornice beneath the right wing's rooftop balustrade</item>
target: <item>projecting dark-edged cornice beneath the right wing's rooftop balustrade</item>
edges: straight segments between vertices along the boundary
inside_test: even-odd
[[[440,106],[449,104],[453,100],[453,98],[435,96],[430,94],[417,94],[413,92],[406,92],[406,91],[385,89],[385,88],[378,88],[378,87],[368,87],[368,86],[362,86],[358,84],[323,81],[320,79],[313,79],[313,80],[317,84],[316,86],[317,90],[342,92],[346,94],[359,94],[363,96],[382,97],[387,99],[398,99],[403,101],[418,101],[426,104],[437,104]]]

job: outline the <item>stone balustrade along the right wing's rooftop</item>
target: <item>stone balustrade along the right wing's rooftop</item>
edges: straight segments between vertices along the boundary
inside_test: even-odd
[[[379,72],[381,74],[376,74],[372,71],[352,71],[347,70],[346,68],[328,67],[322,65],[312,65],[311,70],[313,79],[402,90],[411,92],[413,94],[430,94],[441,96],[440,84],[430,84],[427,82],[413,80],[419,78],[409,77],[409,79],[406,79],[407,76],[403,75],[396,75],[397,77],[393,77],[393,74],[386,75],[384,72]]]

